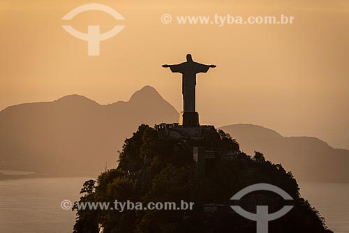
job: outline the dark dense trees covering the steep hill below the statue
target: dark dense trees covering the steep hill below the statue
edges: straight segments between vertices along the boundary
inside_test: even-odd
[[[269,232],[331,232],[309,202],[299,195],[299,187],[290,172],[265,160],[262,153],[253,157],[239,151],[239,144],[219,130],[219,154],[211,169],[201,176],[193,154],[178,140],[158,138],[156,130],[142,125],[124,143],[117,169],[107,170],[97,181],[86,181],[82,197],[75,202],[195,202],[192,211],[115,211],[77,210],[75,233],[115,232],[255,232],[255,222],[232,211],[232,195],[255,183],[271,183],[289,193],[295,207],[279,220],[269,223]],[[227,158],[228,151],[235,151]],[[271,192],[246,195],[242,206],[253,211],[251,203],[274,200],[269,207],[277,211],[283,202]],[[275,200],[277,200],[275,202]],[[205,211],[205,204],[219,203],[217,211]]]

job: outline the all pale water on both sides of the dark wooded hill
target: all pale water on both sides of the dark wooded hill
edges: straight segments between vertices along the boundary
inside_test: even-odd
[[[75,213],[61,209],[63,200],[80,198],[91,178],[0,181],[0,232],[72,232]],[[301,182],[302,196],[318,209],[335,233],[349,233],[349,184]]]

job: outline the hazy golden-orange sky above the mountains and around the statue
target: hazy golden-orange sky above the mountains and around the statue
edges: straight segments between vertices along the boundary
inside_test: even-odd
[[[181,76],[161,68],[194,61],[217,65],[198,75],[200,122],[255,123],[283,135],[320,137],[349,149],[348,1],[92,1],[125,21],[89,11],[68,23],[73,8],[91,1],[0,1],[0,110],[78,93],[98,103],[128,100],[155,87],[181,110]],[[292,15],[292,25],[161,23],[161,15]],[[109,31],[101,56],[70,36],[101,25]]]

